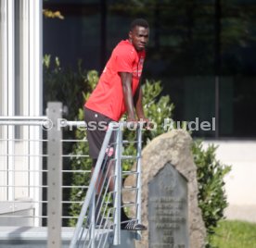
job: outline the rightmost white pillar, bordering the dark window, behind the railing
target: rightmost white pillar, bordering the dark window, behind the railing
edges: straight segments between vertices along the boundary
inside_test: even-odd
[[[42,19],[43,19],[43,3],[42,0],[29,0],[29,114],[30,116],[42,116],[42,74],[43,74],[43,46],[42,46]],[[30,127],[30,139],[41,140],[42,129],[41,127]],[[30,154],[42,154],[42,143],[31,143]],[[42,157],[30,158],[30,169],[42,169]],[[42,173],[32,172],[30,174],[30,185],[42,185]],[[34,201],[42,200],[41,188],[30,188],[30,194]],[[35,216],[40,216],[42,212],[42,205],[37,205],[35,208]],[[35,219],[35,225],[40,225],[40,219]]]

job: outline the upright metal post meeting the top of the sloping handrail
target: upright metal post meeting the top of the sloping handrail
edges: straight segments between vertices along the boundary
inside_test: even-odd
[[[118,245],[121,243],[121,233],[120,233],[120,225],[121,225],[121,183],[122,183],[122,126],[119,126],[117,130],[116,137],[116,164],[115,164],[115,195],[114,195],[114,245]]]

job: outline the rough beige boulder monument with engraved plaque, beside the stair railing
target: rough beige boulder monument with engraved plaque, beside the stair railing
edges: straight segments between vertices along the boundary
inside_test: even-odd
[[[147,144],[142,152],[142,240],[137,248],[204,248],[206,229],[198,208],[197,167],[192,139],[172,130]],[[134,186],[129,176],[125,186]],[[124,201],[134,199],[123,193]],[[131,216],[133,216],[133,209]]]

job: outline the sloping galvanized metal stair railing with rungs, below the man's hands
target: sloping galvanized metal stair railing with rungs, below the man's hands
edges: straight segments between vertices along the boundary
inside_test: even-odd
[[[112,122],[106,133],[104,143],[98,156],[96,167],[86,193],[82,211],[78,219],[73,238],[70,242],[70,248],[74,247],[105,247],[109,238],[112,238],[114,245],[121,244],[121,208],[135,206],[135,217],[132,220],[141,222],[141,125],[136,128],[136,140],[129,142],[123,141],[123,130],[127,127],[125,122]],[[110,143],[111,135],[115,136],[115,142]],[[136,145],[135,155],[123,155],[123,146],[134,143]],[[109,156],[109,149],[113,148],[114,155]],[[136,175],[136,185],[131,188],[122,187],[122,163],[125,160],[134,160],[136,169],[134,171],[125,171],[126,174]],[[114,167],[112,177],[108,178],[109,169]],[[104,174],[102,173],[104,171]],[[102,181],[101,181],[102,180]],[[109,184],[114,180],[114,189],[111,190]],[[122,191],[129,190],[135,192],[134,202],[122,204]],[[96,197],[96,192],[98,196]],[[105,205],[98,201],[102,196],[106,199]],[[112,198],[112,205],[109,205],[109,199]],[[99,211],[96,209],[99,208]],[[100,214],[101,213],[101,214]],[[102,215],[103,217],[99,217]],[[100,219],[100,221],[98,221]],[[98,223],[99,222],[99,223]],[[96,226],[103,230],[112,230],[102,235],[102,232],[96,232]]]

